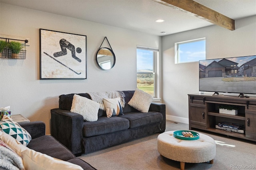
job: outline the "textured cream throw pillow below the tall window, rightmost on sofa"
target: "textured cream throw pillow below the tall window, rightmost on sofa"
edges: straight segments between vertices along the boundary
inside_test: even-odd
[[[140,90],[136,89],[132,96],[132,99],[128,102],[128,105],[134,107],[140,112],[147,113],[150,107],[150,104],[153,101],[153,96]]]

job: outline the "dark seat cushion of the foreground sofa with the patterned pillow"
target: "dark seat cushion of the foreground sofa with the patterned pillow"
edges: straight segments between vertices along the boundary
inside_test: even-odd
[[[28,148],[61,160],[75,158],[74,154],[70,152],[70,150],[50,135],[44,135],[32,139],[28,144]]]

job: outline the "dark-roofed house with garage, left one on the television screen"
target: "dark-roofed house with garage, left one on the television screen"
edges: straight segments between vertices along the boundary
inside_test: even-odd
[[[239,70],[237,65],[238,63],[225,58],[218,62],[214,60],[205,67],[205,77],[237,77]]]

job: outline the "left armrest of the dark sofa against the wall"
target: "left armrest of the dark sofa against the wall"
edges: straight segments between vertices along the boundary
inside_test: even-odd
[[[84,118],[78,113],[72,113],[63,109],[51,110],[52,136],[75,155],[83,152],[83,124]]]

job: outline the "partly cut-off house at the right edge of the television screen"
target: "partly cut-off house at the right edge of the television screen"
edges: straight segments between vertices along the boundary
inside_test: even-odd
[[[247,61],[239,67],[239,75],[256,77],[256,58]]]

